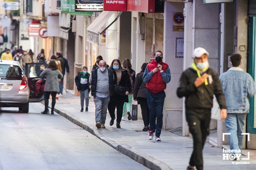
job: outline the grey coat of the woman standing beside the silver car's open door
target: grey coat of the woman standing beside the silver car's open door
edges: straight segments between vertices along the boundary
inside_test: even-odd
[[[58,79],[63,78],[62,73],[59,70],[45,69],[40,77],[46,76],[44,91],[59,91]]]

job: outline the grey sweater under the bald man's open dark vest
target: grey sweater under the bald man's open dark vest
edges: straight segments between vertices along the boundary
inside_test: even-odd
[[[89,78],[89,83],[91,84],[91,75]],[[102,72],[100,69],[98,69],[96,94],[99,94],[99,95],[109,95],[110,94],[107,69],[105,69],[104,72]]]

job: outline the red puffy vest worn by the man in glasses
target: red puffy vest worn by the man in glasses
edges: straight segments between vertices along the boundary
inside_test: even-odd
[[[157,68],[157,62],[155,60],[152,60],[148,65],[148,73],[150,73],[154,68]],[[164,62],[159,62],[159,64],[162,65],[162,70],[165,70],[168,68],[168,64],[164,63]],[[153,92],[153,93],[160,93],[162,91],[164,91],[166,89],[166,83],[164,82],[164,80],[162,79],[162,75],[160,73],[160,71],[154,73],[154,75],[152,76],[152,78],[148,81],[148,83],[146,84],[146,87],[149,91]]]

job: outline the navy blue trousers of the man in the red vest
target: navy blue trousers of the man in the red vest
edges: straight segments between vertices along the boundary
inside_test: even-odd
[[[155,132],[155,136],[160,136],[163,127],[165,91],[152,93],[147,90],[146,96],[149,109],[149,130]]]

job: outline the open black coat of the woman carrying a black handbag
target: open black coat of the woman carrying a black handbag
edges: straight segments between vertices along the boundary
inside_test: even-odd
[[[112,68],[113,73],[114,73],[114,84],[117,84],[117,77],[116,77],[116,71]],[[128,74],[128,71],[126,69],[122,69],[122,74],[121,74],[121,80],[119,85],[123,86],[125,91],[128,91],[129,93],[132,91],[132,84],[130,81],[130,76]],[[121,95],[117,95],[117,94],[113,94],[112,97],[110,97],[110,100],[114,100],[116,102],[129,102],[128,96],[121,96]]]

